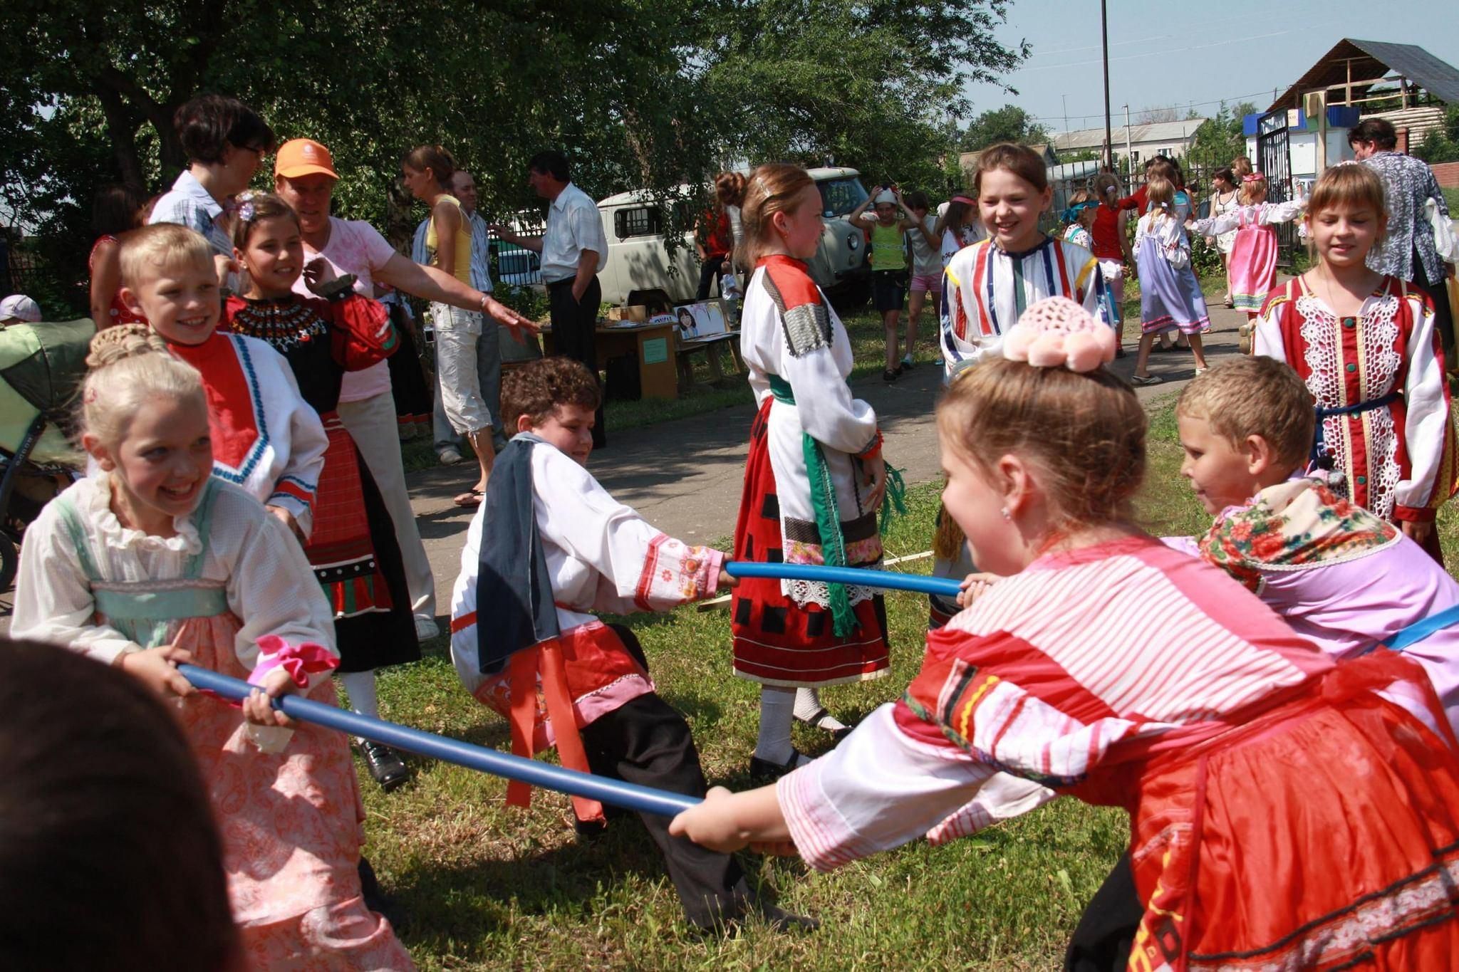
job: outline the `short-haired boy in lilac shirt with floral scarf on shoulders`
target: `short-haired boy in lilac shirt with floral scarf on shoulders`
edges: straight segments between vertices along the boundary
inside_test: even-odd
[[[1402,530],[1304,477],[1316,412],[1291,367],[1239,357],[1198,376],[1176,404],[1180,475],[1207,513],[1201,538],[1170,538],[1255,592],[1336,657],[1364,654],[1459,605],[1459,584]],[[1459,628],[1405,648],[1459,730]]]

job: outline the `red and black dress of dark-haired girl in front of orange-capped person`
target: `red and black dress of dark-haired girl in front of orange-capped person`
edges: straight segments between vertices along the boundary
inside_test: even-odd
[[[305,554],[334,609],[340,670],[369,672],[419,659],[390,510],[334,411],[344,373],[378,364],[395,350],[385,307],[344,287],[334,300],[229,297],[223,316],[233,334],[266,341],[285,356],[328,436]]]

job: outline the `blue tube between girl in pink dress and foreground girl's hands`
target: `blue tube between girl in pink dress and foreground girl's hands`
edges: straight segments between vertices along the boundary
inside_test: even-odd
[[[247,682],[219,675],[209,669],[200,669],[196,665],[179,665],[178,672],[194,688],[206,689],[228,699],[242,701],[254,689]],[[681,793],[654,790],[633,783],[623,783],[622,780],[608,780],[607,777],[595,777],[578,772],[576,769],[553,767],[537,759],[514,756],[484,746],[473,746],[458,739],[423,733],[419,729],[410,729],[398,723],[387,723],[382,718],[359,716],[343,708],[336,708],[334,705],[299,698],[298,695],[276,698],[273,705],[290,718],[298,718],[303,723],[337,729],[341,733],[374,739],[395,749],[489,772],[493,777],[521,780],[544,790],[556,790],[575,797],[588,797],[589,800],[611,803],[627,810],[638,810],[639,813],[674,816],[680,810],[687,810],[699,803],[699,797],[686,797]]]

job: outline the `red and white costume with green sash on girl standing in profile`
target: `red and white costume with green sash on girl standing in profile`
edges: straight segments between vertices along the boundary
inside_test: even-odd
[[[881,532],[859,462],[880,453],[877,415],[851,395],[851,341],[805,264],[760,261],[746,290],[740,348],[760,412],[750,428],[734,558],[880,564]],[[881,678],[881,595],[836,587],[741,580],[732,614],[735,675],[766,685]]]

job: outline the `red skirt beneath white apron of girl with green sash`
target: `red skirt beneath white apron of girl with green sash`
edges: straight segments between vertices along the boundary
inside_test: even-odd
[[[781,507],[770,466],[766,398],[750,427],[750,458],[734,530],[734,560],[782,560]],[[854,567],[856,564],[852,564]],[[887,608],[881,595],[855,605],[856,630],[832,631],[830,609],[801,606],[781,593],[781,581],[746,577],[734,592],[734,673],[765,685],[837,685],[887,673]]]

